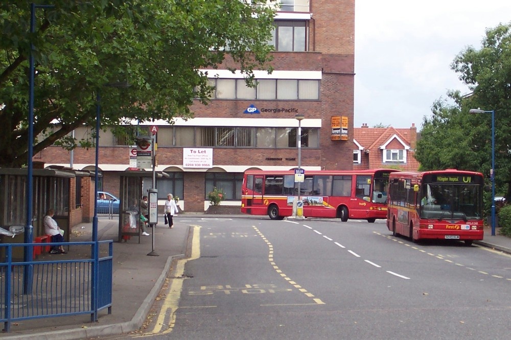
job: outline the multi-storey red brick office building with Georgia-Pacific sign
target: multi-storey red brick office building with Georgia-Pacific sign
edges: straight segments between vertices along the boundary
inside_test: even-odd
[[[353,169],[355,0],[280,2],[271,42],[274,71],[256,70],[257,88],[221,65],[208,70],[216,91],[210,105],[192,106],[195,118],[147,124],[158,126],[156,171],[170,176],[157,180],[159,199],[172,192],[185,211],[204,211],[207,193],[219,187],[225,191],[222,205],[240,205],[245,170],[297,167],[296,114],[305,116],[301,167]],[[341,118],[342,126],[333,125]],[[75,136],[87,133],[77,129]],[[110,132],[100,134],[101,190],[119,192],[129,151]],[[34,160],[69,166],[70,157],[50,147]],[[72,162],[75,169],[92,170],[95,152],[75,150]],[[144,189],[150,186],[144,182]]]

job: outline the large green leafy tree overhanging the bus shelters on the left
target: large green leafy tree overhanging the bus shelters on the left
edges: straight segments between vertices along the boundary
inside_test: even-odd
[[[30,32],[30,3],[37,8]],[[102,125],[189,118],[207,104],[207,72],[271,71],[275,9],[266,1],[8,0],[0,4],[0,166],[27,162],[29,56],[34,46],[34,154],[60,143],[89,147],[69,133]],[[125,82],[126,89],[105,86]],[[53,123],[57,129],[49,130]]]

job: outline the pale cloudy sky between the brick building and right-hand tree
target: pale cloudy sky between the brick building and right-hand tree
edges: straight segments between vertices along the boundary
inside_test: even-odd
[[[450,69],[456,55],[509,22],[509,0],[356,0],[354,126],[420,130],[435,100],[468,92]]]

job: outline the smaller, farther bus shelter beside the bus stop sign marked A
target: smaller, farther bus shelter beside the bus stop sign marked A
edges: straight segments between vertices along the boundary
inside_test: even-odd
[[[143,192],[144,181],[152,182],[153,173],[147,171],[125,171],[120,181],[120,202],[119,202],[119,238],[118,241],[128,241],[131,237],[142,235],[142,224],[140,214],[140,201],[147,192]],[[166,173],[155,173],[156,178],[169,177]]]

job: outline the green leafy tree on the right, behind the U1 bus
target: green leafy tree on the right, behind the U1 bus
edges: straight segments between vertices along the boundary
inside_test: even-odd
[[[423,169],[458,168],[490,177],[492,123],[495,110],[495,180],[497,192],[511,197],[511,24],[486,30],[479,50],[461,51],[451,68],[469,86],[471,94],[450,91],[453,104],[439,100],[433,115],[425,117],[416,158]]]

